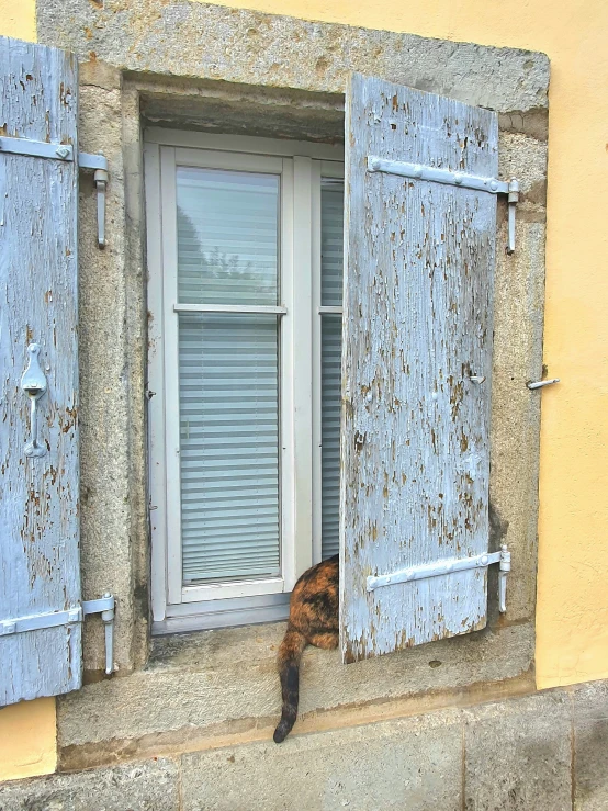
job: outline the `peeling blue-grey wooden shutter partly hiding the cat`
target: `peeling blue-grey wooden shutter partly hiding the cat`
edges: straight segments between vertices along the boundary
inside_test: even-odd
[[[496,230],[488,187],[497,144],[487,110],[352,77],[340,504],[346,662],[485,626],[486,567],[439,576],[420,567],[430,574],[441,561],[488,548]],[[483,190],[459,187],[462,177],[457,184],[426,180],[426,167],[482,178]],[[404,169],[413,177],[395,173]],[[420,578],[396,582],[414,567]],[[386,585],[368,579],[396,573]]]

